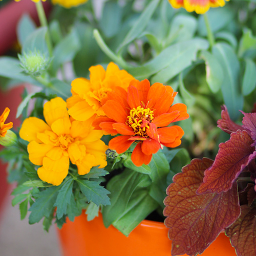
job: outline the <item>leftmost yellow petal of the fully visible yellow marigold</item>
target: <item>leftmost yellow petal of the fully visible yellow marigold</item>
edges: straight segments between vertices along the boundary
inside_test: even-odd
[[[37,138],[37,133],[42,133],[45,131],[51,131],[51,127],[37,117],[29,117],[24,120],[19,131],[19,136],[20,138],[29,142],[33,140],[36,142],[41,142]]]

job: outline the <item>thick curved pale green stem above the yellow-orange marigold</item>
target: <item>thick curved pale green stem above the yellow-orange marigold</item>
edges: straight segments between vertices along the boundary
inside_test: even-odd
[[[109,56],[114,62],[119,64],[123,69],[129,69],[130,67],[127,65],[127,63],[121,58],[118,57],[114,52],[112,52],[109,47],[105,44],[102,37],[100,36],[100,33],[97,29],[94,29],[93,35],[98,43],[98,46],[100,49]]]

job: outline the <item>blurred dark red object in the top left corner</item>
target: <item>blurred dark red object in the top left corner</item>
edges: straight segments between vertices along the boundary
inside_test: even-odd
[[[50,2],[43,3],[45,12],[49,13],[51,9]],[[22,0],[20,2],[11,1],[0,9],[0,55],[9,50],[16,40],[16,26],[24,13],[28,13],[38,24],[38,17],[35,3],[31,0]]]

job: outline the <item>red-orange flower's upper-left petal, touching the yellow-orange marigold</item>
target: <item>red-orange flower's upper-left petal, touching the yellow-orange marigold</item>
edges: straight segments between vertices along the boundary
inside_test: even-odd
[[[122,108],[122,105],[114,100],[108,100],[103,105],[103,111],[109,118],[115,120],[116,122],[125,123],[127,119],[127,114]]]

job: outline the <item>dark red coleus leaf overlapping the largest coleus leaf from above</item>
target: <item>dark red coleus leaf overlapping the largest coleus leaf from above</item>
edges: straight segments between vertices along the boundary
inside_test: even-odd
[[[219,145],[214,164],[205,170],[203,183],[197,193],[221,193],[232,187],[243,168],[256,157],[252,139],[246,131],[232,133],[230,139]]]

